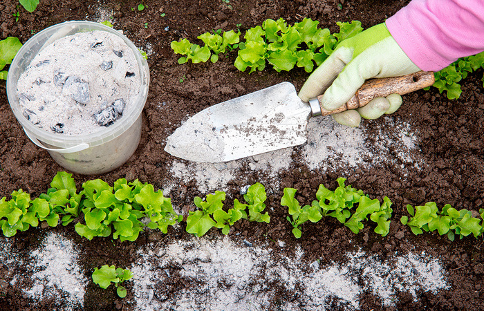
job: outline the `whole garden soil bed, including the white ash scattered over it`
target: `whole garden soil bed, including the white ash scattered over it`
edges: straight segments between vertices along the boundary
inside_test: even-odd
[[[216,63],[177,63],[170,42],[196,42],[203,32],[241,31],[268,18],[288,23],[310,17],[337,31],[336,21],[381,23],[409,1],[52,1],[33,13],[19,3],[0,3],[0,39],[25,43],[35,32],[68,20],[105,21],[123,30],[148,54],[149,97],[140,145],[122,167],[101,176],[74,174],[82,182],[118,178],[164,189],[178,213],[194,196],[227,193],[261,182],[268,192],[270,223],[236,223],[228,236],[211,229],[202,238],[185,223],[168,234],[147,230],[136,242],[81,238],[73,225],[39,226],[0,238],[1,310],[484,310],[484,243],[472,236],[451,242],[437,234],[414,236],[400,223],[406,205],[435,201],[456,209],[483,208],[484,125],[482,70],[469,75],[458,100],[435,88],[404,95],[393,115],[347,129],[331,117],[311,120],[308,144],[221,164],[196,164],[165,153],[166,139],[188,117],[218,102],[288,81],[301,88],[308,73],[242,73],[235,53]],[[12,15],[20,11],[19,21]],[[241,24],[241,26],[237,26]],[[44,193],[57,171],[46,151],[26,137],[0,83],[0,196],[24,189]],[[292,236],[281,207],[284,187],[298,189],[310,204],[319,184],[336,178],[371,198],[393,202],[390,233],[382,238],[368,224],[353,234],[335,218],[302,227]],[[95,267],[127,267],[135,277],[120,299],[113,286],[91,280]]]

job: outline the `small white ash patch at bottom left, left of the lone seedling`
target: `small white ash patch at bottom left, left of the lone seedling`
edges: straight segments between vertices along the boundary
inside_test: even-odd
[[[60,300],[66,303],[64,310],[77,310],[84,305],[84,288],[88,281],[77,265],[78,254],[72,241],[50,233],[30,256],[34,260],[29,261],[28,269],[35,272],[32,288],[25,294],[37,301]]]

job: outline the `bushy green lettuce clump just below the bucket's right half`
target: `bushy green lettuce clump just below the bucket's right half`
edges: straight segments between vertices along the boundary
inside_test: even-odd
[[[115,239],[135,241],[145,227],[142,218],[148,217],[151,220],[148,227],[163,233],[182,218],[161,190],[154,191],[153,185],[139,180],[127,182],[120,178],[111,187],[97,179],[84,182],[82,187],[86,197],[82,201],[85,225],[77,223],[75,230],[89,240],[94,236],[110,236],[113,232]]]

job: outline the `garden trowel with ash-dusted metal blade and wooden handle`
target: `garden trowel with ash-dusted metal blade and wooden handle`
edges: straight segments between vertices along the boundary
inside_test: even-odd
[[[211,106],[190,117],[169,136],[165,151],[195,162],[227,162],[304,144],[310,117],[356,109],[375,97],[400,95],[434,84],[434,73],[371,79],[339,109],[321,107],[323,95],[303,102],[295,86],[283,82]]]

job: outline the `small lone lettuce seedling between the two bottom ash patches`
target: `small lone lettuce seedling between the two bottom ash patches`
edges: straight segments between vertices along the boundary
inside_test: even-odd
[[[133,277],[133,272],[128,269],[122,269],[114,265],[103,265],[101,269],[94,269],[92,278],[93,282],[103,288],[104,290],[114,283],[116,288],[116,293],[121,298],[126,297],[126,288],[121,285],[124,281],[127,281]]]

